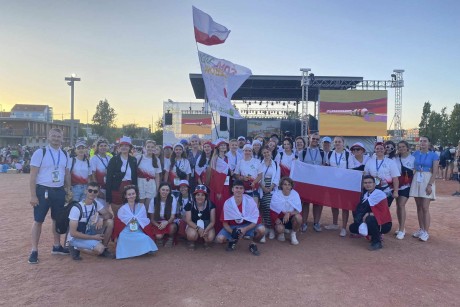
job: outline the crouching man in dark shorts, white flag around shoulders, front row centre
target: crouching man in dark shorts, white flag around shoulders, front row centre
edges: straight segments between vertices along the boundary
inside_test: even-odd
[[[227,251],[233,251],[239,239],[249,236],[253,239],[249,244],[249,251],[259,256],[260,252],[254,241],[260,241],[265,234],[259,208],[251,196],[243,195],[244,185],[241,180],[234,181],[232,192],[233,196],[224,203],[224,210],[220,217],[223,228],[217,235],[216,241],[218,243],[228,241]]]

